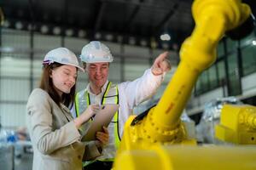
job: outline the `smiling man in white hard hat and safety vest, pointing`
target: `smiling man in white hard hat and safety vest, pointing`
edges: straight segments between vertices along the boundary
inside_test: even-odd
[[[113,56],[109,48],[102,42],[94,41],[85,45],[80,59],[89,77],[87,87],[76,95],[75,111],[79,116],[91,104],[119,104],[119,111],[108,125],[109,143],[105,146],[97,161],[87,164],[85,169],[111,169],[115,152],[123,134],[123,127],[131,115],[132,109],[150,98],[160,87],[166,71],[171,65],[166,59],[168,53],[160,54],[151,69],[144,72],[143,77],[133,82],[122,82],[117,85],[108,81],[109,64]]]

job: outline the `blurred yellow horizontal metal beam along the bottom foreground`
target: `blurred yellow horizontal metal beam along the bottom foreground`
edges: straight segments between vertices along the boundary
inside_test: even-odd
[[[122,170],[254,170],[253,146],[163,146],[151,150],[125,150],[115,160]]]

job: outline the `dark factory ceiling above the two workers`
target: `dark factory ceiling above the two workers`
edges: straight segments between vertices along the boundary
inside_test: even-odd
[[[195,24],[193,0],[3,0],[6,27],[178,49]],[[247,0],[255,15],[255,1]],[[170,41],[161,41],[168,33]],[[167,37],[168,38],[168,37]]]

